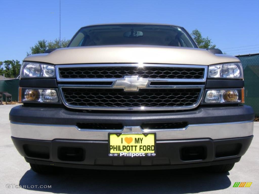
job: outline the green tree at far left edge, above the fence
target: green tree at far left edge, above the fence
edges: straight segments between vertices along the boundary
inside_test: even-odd
[[[1,66],[4,64],[4,68]],[[4,74],[5,77],[16,78],[20,74],[21,64],[18,60],[5,60],[4,62],[0,62],[0,72]]]

